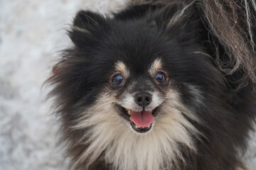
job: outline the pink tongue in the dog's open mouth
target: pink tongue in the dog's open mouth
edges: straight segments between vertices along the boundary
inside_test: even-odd
[[[151,114],[151,111],[141,111],[141,112],[131,112],[130,120],[140,127],[147,127],[154,122],[154,116]]]

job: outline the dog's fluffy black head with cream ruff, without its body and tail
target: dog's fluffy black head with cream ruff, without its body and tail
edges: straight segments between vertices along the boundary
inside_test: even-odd
[[[215,105],[223,79],[188,8],[151,8],[134,19],[77,14],[75,46],[51,78],[77,162],[105,157],[121,169],[159,169],[181,158],[180,145],[196,152],[194,125]]]

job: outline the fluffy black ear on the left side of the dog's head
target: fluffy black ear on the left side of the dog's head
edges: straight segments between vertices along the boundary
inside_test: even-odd
[[[95,45],[101,38],[102,29],[105,28],[107,21],[104,16],[91,11],[79,11],[68,34],[76,47],[85,48]]]

